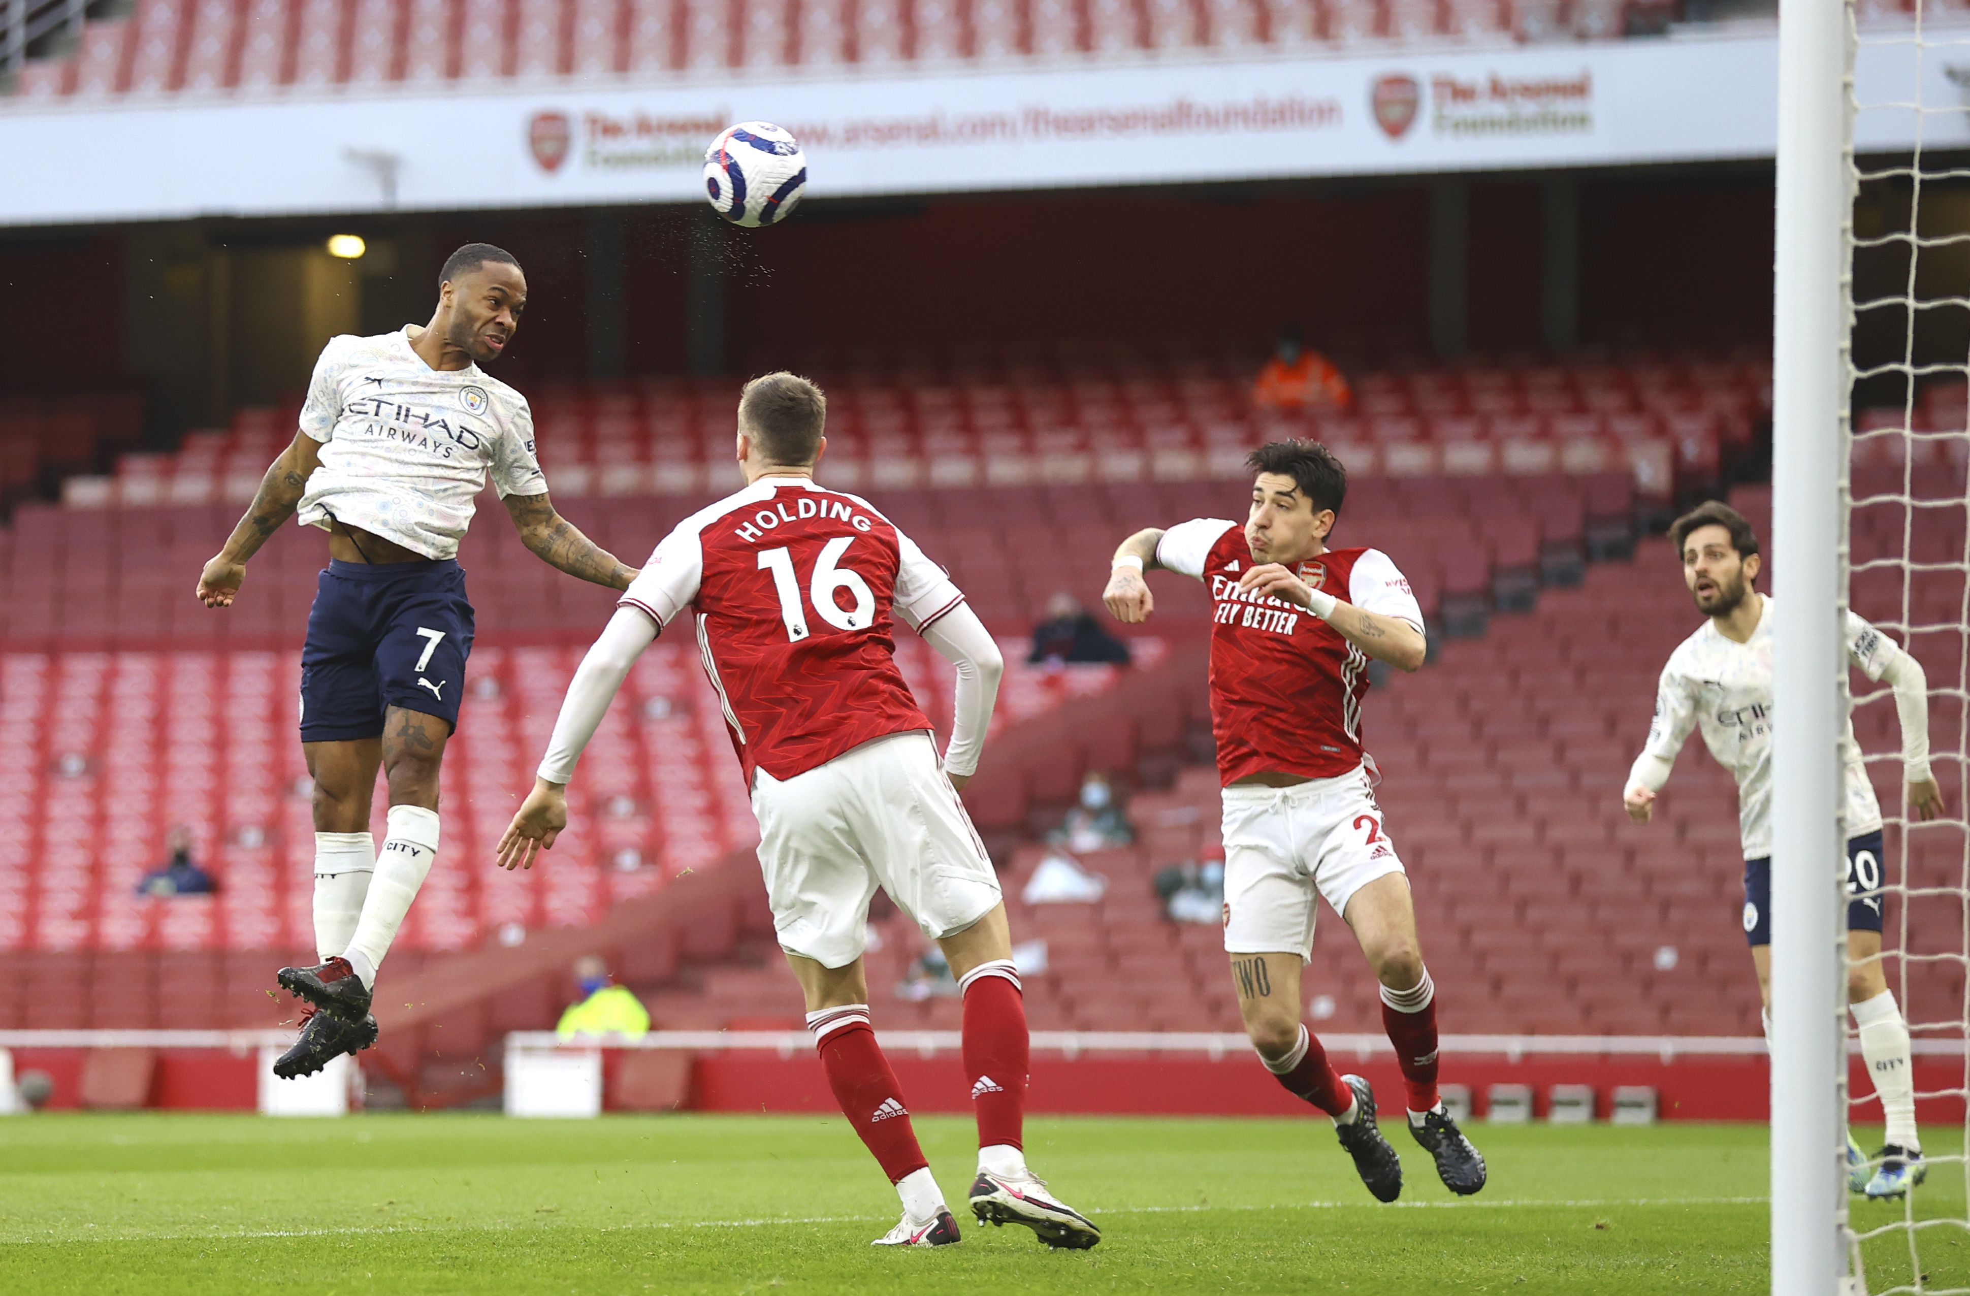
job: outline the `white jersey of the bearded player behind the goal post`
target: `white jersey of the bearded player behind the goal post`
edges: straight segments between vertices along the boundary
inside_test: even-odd
[[[1893,640],[1854,613],[1846,615],[1848,658],[1870,680],[1879,680],[1901,652]],[[1690,729],[1704,731],[1704,746],[1738,778],[1738,833],[1745,859],[1771,855],[1771,595],[1757,628],[1743,644],[1726,638],[1704,618],[1696,634],[1682,640],[1655,693],[1655,723],[1643,748],[1651,756],[1674,760]],[[1881,804],[1868,782],[1854,723],[1848,721],[1840,745],[1846,778],[1846,835],[1860,837],[1881,827]]]

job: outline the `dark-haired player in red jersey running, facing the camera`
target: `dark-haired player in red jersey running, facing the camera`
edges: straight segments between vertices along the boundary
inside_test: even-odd
[[[1381,981],[1381,1020],[1409,1095],[1409,1131],[1456,1194],[1483,1188],[1478,1148],[1436,1093],[1436,987],[1422,965],[1409,878],[1361,750],[1369,658],[1422,666],[1422,611],[1381,550],[1330,550],[1347,473],[1324,445],[1273,441],[1245,526],[1217,518],[1131,536],[1103,599],[1147,620],[1143,581],[1162,567],[1212,587],[1212,729],[1223,780],[1225,951],[1245,1032],[1290,1093],[1334,1117],[1342,1146],[1383,1201],[1403,1162],[1375,1127],[1375,1093],[1336,1075],[1300,1022],[1300,967],[1326,896]]]

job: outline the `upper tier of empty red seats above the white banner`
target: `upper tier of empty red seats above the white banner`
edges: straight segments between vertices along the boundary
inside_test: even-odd
[[[1629,12],[1655,16],[1637,30],[1659,30],[1671,8],[1669,0],[1576,0],[1564,12],[1539,0],[138,0],[134,18],[85,24],[81,57],[28,63],[20,95],[264,95],[1389,39],[1609,39],[1631,26]]]

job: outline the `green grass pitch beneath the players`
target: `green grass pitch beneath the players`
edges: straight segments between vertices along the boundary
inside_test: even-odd
[[[969,1121],[916,1125],[961,1203]],[[1761,1127],[1476,1125],[1491,1184],[1468,1201],[1391,1133],[1407,1184],[1379,1205],[1326,1121],[1034,1119],[1028,1156],[1101,1223],[1095,1251],[959,1205],[961,1247],[894,1253],[869,1239],[896,1198],[835,1119],[22,1117],[0,1121],[0,1292],[1767,1290]],[[1960,1219],[1962,1184],[1938,1168],[1919,1215]],[[1913,1276],[1905,1237],[1868,1261],[1875,1290]],[[1970,1282],[1964,1233],[1925,1229],[1921,1264]]]

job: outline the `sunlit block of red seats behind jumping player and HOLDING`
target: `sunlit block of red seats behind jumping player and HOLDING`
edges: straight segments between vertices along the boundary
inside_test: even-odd
[[[1026,668],[1017,662],[1022,644],[1005,648],[1015,664],[995,717],[1001,729],[1117,678],[1107,666]],[[491,867],[579,656],[579,646],[473,654],[441,784],[445,865],[426,882],[402,947],[463,949],[498,930],[587,926],[611,904],[755,839],[697,652],[660,642],[583,760],[571,792],[575,823],[552,867],[516,875]],[[1139,642],[1143,662],[1158,656],[1158,642]],[[948,664],[912,634],[898,640],[898,662],[948,729]],[[10,829],[0,845],[0,949],[305,945],[313,823],[294,737],[297,687],[292,650],[0,656],[0,750],[16,770],[0,788],[0,821]],[[378,841],[382,811],[378,798]],[[173,823],[191,827],[193,855],[217,876],[217,896],[136,894]]]

